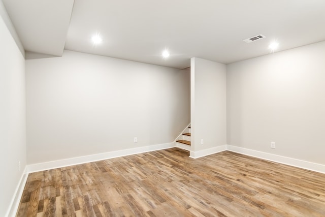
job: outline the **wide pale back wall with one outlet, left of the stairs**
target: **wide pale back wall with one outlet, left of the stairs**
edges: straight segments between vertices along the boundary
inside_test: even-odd
[[[170,143],[190,121],[188,70],[64,50],[26,60],[26,89],[28,164]]]

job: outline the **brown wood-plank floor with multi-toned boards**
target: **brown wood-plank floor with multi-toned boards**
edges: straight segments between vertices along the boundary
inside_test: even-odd
[[[325,216],[325,174],[171,148],[31,173],[17,216]]]

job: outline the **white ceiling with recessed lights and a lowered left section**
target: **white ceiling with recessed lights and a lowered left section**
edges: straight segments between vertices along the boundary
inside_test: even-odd
[[[324,0],[2,1],[25,50],[51,55],[64,47],[183,69],[194,56],[228,64],[270,53],[274,40],[279,50],[325,40]],[[267,38],[243,42],[258,34]]]

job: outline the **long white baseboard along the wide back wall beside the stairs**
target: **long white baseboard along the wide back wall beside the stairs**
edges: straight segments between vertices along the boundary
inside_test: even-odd
[[[118,158],[118,157],[128,156],[128,155],[132,155],[132,154],[167,149],[167,148],[172,148],[172,147],[176,147],[174,142],[158,144],[158,145],[149,145],[149,146],[138,147],[138,148],[129,148],[129,149],[117,150],[117,151],[110,151],[110,152],[105,152],[105,153],[98,153],[98,154],[92,154],[92,155],[88,155],[88,156],[82,156],[82,157],[70,158],[70,159],[62,159],[62,160],[44,162],[44,163],[39,163],[39,164],[30,164],[30,165],[27,165],[27,172],[31,173],[31,172],[50,170],[50,169],[55,169],[55,168],[60,168],[60,167],[67,167],[67,166],[84,164],[84,163],[95,162],[95,161],[101,161],[101,160],[106,160],[106,159],[111,159],[111,158]]]

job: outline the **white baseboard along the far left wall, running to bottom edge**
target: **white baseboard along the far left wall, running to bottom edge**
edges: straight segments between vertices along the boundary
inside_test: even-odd
[[[14,197],[12,198],[12,200],[10,202],[10,206],[9,206],[5,216],[8,216],[8,217],[16,216],[16,213],[17,213],[17,210],[19,207],[19,203],[20,203],[20,199],[21,199],[22,193],[24,191],[25,184],[26,184],[27,177],[28,177],[28,173],[26,172],[26,170],[27,170],[27,167],[25,167],[25,170],[20,177]]]

